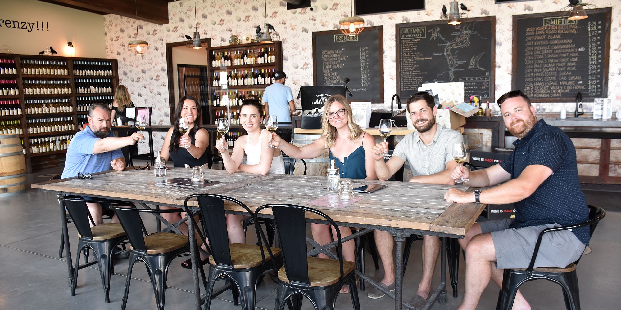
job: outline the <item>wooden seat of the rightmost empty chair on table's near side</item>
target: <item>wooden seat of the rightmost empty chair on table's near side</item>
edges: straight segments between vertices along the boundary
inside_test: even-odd
[[[308,257],[308,262],[311,286],[327,286],[338,282],[340,277],[338,260]],[[343,260],[343,275],[352,272],[354,267],[355,264],[353,262]],[[283,282],[289,283],[284,267],[278,270],[278,278]]]

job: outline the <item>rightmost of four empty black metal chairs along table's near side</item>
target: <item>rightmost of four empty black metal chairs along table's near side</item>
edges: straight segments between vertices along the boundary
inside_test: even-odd
[[[360,310],[355,264],[343,261],[337,223],[321,211],[297,205],[263,205],[256,209],[255,218],[266,208],[273,211],[284,260],[284,267],[278,271],[274,310],[282,310],[289,298],[293,299],[294,309],[300,309],[302,296],[310,299],[317,310],[334,309],[338,292],[345,284],[349,285],[353,308]],[[338,260],[307,256],[306,212],[319,215],[336,229]]]

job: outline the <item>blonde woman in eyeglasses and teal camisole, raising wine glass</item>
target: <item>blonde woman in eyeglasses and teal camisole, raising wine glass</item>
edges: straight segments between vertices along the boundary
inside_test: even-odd
[[[373,136],[365,133],[352,120],[351,106],[342,95],[329,97],[324,104],[324,115],[321,118],[324,132],[321,138],[311,144],[297,147],[283,141],[277,134],[271,135],[271,143],[278,146],[285,154],[296,159],[311,159],[328,153],[335,159],[342,178],[376,180],[373,161]],[[311,224],[312,236],[320,244],[332,242],[328,225]],[[341,237],[351,235],[348,227],[339,227]],[[333,232],[333,236],[336,236]],[[319,254],[319,257],[327,257]],[[343,243],[343,257],[354,262],[353,240]],[[347,287],[341,293],[348,293]]]

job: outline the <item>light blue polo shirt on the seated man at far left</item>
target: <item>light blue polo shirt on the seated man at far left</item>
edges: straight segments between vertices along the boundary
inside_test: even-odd
[[[113,137],[114,133],[110,131],[109,137]],[[123,157],[120,149],[114,151],[93,154],[95,143],[99,140],[89,126],[83,131],[76,133],[69,143],[65,158],[65,170],[63,170],[62,179],[67,177],[76,177],[78,172],[96,173],[112,169],[110,162],[112,159]]]

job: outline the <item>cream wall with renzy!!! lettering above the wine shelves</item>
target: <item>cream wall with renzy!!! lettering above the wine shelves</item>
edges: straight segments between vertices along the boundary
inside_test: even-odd
[[[51,46],[58,56],[106,58],[104,15],[35,0],[0,0],[0,12],[0,45],[13,53],[37,55]],[[75,55],[68,54],[68,41]]]

